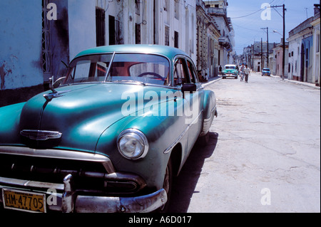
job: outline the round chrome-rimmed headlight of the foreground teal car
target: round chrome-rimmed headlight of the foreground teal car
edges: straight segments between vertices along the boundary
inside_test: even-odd
[[[117,138],[119,152],[127,159],[142,159],[148,152],[148,140],[143,132],[128,129],[121,132]]]

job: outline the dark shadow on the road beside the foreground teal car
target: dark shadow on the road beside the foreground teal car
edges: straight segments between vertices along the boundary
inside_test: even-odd
[[[210,142],[206,147],[195,144],[180,174],[173,179],[168,212],[186,213],[188,211],[193,194],[199,193],[199,191],[195,191],[195,186],[198,183],[205,159],[212,156],[217,143],[218,133],[210,132]]]

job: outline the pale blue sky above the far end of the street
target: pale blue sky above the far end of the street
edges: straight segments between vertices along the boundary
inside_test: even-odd
[[[289,31],[314,16],[314,4],[320,0],[228,0],[228,17],[231,18],[235,31],[235,51],[243,53],[243,48],[250,46],[254,41],[267,41],[267,28],[269,30],[269,43],[280,43],[283,33],[282,7],[270,8],[270,17],[267,9],[261,9],[262,4],[282,6],[285,4],[285,40]],[[262,19],[263,14],[266,20]],[[278,33],[273,33],[273,30]],[[280,34],[279,34],[280,33]]]

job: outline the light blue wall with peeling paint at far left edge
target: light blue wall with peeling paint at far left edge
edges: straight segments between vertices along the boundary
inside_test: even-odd
[[[0,90],[43,83],[41,1],[0,1]]]

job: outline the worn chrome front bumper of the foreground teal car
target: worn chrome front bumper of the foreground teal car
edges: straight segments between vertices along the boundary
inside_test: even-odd
[[[3,203],[2,189],[44,192],[46,189],[63,190],[56,193],[56,204],[47,204],[47,210],[63,213],[148,213],[165,205],[167,194],[165,189],[153,194],[137,197],[84,196],[73,191],[72,176],[68,174],[63,184],[51,184],[38,181],[25,181],[0,177],[0,202]],[[27,186],[27,189],[26,189]],[[32,188],[37,190],[32,190]],[[40,190],[40,191],[39,191]]]

